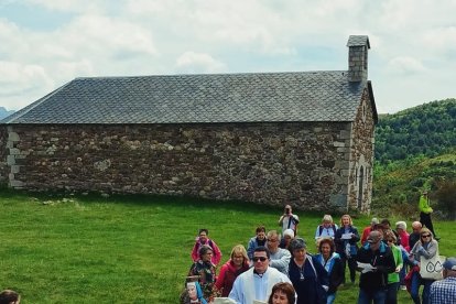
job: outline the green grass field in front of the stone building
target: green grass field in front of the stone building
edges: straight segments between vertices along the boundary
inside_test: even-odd
[[[242,203],[32,197],[6,191],[0,208],[0,289],[19,291],[21,303],[178,303],[198,228],[209,229],[225,262],[235,245],[247,246],[258,225],[279,228],[282,211]],[[298,235],[312,251],[323,214],[297,215]],[[368,222],[368,217],[355,219],[360,230]],[[453,225],[435,222],[441,254],[456,256]],[[356,303],[357,292],[345,285],[336,303]],[[411,303],[404,291],[400,303]]]

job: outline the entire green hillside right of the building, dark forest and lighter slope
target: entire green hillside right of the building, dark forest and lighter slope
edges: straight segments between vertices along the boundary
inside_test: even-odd
[[[456,219],[456,99],[379,117],[372,209],[412,219],[423,189],[436,216]]]

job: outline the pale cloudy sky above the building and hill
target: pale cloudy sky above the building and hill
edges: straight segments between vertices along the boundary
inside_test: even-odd
[[[379,113],[456,98],[456,0],[0,0],[0,107],[77,77],[348,69]]]

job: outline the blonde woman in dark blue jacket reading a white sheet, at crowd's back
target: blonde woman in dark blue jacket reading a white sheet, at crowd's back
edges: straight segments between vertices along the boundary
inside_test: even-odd
[[[340,228],[337,229],[334,242],[336,243],[336,252],[339,253],[344,272],[347,267],[350,270],[350,281],[355,284],[356,278],[356,254],[358,253],[357,242],[359,241],[358,229],[354,226],[351,217],[349,215],[343,215],[340,217]],[[345,283],[345,275],[343,284]]]

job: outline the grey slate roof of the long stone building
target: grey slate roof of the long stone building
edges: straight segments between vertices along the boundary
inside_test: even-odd
[[[76,78],[0,123],[354,121],[365,88],[374,102],[370,82],[349,83],[347,74]]]

